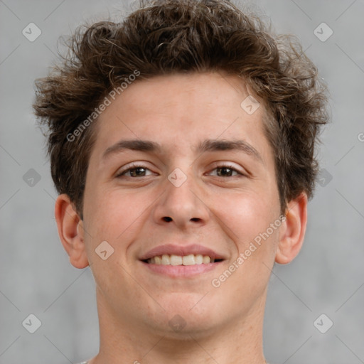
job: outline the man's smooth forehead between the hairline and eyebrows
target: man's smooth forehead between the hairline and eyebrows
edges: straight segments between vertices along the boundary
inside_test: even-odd
[[[264,112],[237,76],[193,73],[137,80],[100,115],[93,153],[104,154],[119,139],[154,140],[173,154],[197,151],[206,139],[259,144]]]

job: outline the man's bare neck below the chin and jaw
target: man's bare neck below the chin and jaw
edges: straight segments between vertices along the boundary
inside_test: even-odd
[[[89,364],[264,364],[262,326],[265,297],[242,319],[210,331],[170,333],[132,325],[112,314],[97,289],[100,352]]]

